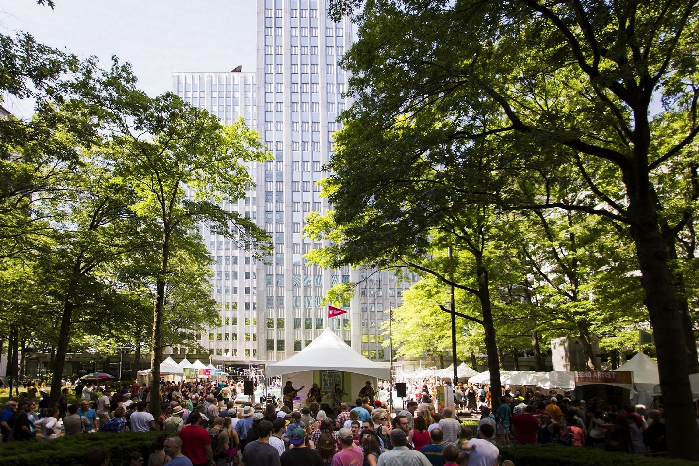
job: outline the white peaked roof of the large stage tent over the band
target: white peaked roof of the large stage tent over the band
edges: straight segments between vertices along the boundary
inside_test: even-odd
[[[311,344],[284,361],[265,366],[267,377],[308,370],[338,370],[379,379],[391,378],[391,367],[370,361],[326,328]]]

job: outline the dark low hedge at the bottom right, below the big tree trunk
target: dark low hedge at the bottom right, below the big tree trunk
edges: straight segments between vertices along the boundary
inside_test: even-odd
[[[696,466],[697,463],[675,458],[651,458],[614,453],[579,446],[515,445],[500,448],[501,460],[512,460],[516,466]]]

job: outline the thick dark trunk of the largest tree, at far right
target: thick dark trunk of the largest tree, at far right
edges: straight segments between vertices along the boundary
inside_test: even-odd
[[[649,202],[647,178],[633,181],[640,182],[636,185],[637,191],[628,189],[628,217],[633,222],[630,233],[642,274],[644,303],[654,329],[667,430],[665,439],[671,456],[699,460],[699,434],[689,386],[690,352],[684,344],[682,310],[675,295],[658,217]],[[696,365],[696,361],[694,363]]]

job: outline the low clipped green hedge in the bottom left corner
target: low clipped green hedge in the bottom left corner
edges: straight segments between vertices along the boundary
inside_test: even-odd
[[[128,464],[128,456],[139,451],[147,464],[150,444],[162,432],[98,432],[71,435],[38,442],[8,442],[0,445],[2,466],[75,466],[81,465],[85,454],[95,446],[109,451],[110,464]]]

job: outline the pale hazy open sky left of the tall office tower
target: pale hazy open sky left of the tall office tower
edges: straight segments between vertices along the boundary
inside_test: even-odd
[[[173,71],[255,70],[257,0],[0,0],[0,31],[25,31],[78,57],[129,61],[152,96],[171,90]],[[31,108],[6,101],[13,113]],[[19,115],[18,115],[19,116]]]

